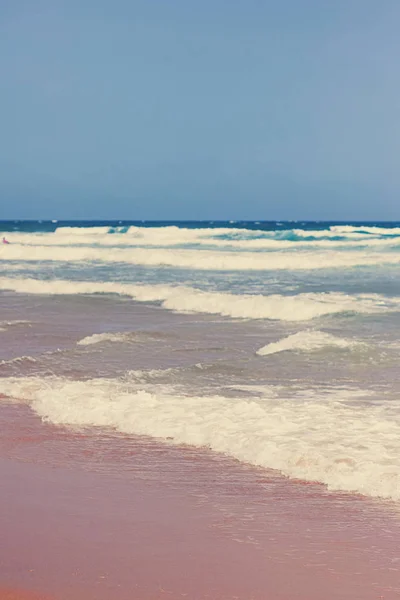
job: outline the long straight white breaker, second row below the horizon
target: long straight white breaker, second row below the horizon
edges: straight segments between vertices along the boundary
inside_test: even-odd
[[[209,271],[269,271],[399,265],[399,253],[346,251],[235,252],[184,249],[7,246],[1,254],[12,261],[127,263]]]

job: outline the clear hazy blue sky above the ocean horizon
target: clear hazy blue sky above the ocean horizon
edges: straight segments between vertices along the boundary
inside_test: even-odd
[[[400,220],[398,0],[0,0],[0,219]]]

